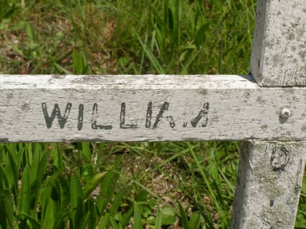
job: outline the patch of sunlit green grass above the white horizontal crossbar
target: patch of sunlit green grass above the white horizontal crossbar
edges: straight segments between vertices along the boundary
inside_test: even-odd
[[[248,73],[255,0],[8,2],[6,73]]]

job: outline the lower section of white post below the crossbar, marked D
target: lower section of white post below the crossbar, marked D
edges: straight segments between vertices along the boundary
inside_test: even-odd
[[[306,142],[245,142],[231,228],[293,228]]]

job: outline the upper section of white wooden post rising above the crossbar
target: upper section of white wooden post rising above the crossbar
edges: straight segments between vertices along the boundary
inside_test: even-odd
[[[305,15],[305,0],[258,0],[251,74],[259,85],[306,85]]]

